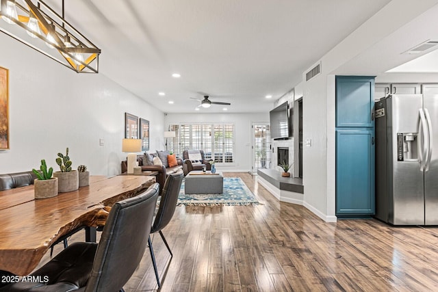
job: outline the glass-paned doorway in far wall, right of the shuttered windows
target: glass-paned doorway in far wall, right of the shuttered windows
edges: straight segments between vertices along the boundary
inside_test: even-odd
[[[253,163],[251,173],[257,174],[259,168],[270,168],[271,165],[271,133],[268,122],[253,122]]]

